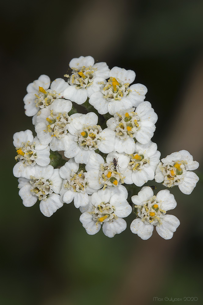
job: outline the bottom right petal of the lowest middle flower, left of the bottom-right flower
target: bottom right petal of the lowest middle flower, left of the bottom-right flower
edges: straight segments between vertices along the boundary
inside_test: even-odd
[[[114,237],[115,234],[120,234],[127,227],[126,221],[123,218],[113,219],[112,222],[106,221],[103,223],[102,231],[108,237]]]

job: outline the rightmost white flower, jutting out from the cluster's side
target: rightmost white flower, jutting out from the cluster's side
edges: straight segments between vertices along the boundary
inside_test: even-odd
[[[161,159],[155,172],[155,181],[171,188],[178,185],[183,194],[189,195],[199,181],[198,176],[191,172],[199,167],[197,161],[187,150],[173,152]]]

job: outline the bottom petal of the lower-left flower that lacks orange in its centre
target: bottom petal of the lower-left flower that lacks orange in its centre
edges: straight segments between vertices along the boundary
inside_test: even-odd
[[[40,211],[46,217],[50,217],[62,206],[63,203],[60,200],[60,196],[58,194],[51,194],[45,200],[41,200]]]

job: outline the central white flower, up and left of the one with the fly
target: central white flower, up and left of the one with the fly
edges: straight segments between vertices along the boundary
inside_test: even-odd
[[[112,152],[115,132],[97,125],[98,116],[94,112],[76,113],[70,116],[68,126],[70,147],[64,155],[75,159],[76,163],[87,164],[89,157],[96,149],[103,153]]]

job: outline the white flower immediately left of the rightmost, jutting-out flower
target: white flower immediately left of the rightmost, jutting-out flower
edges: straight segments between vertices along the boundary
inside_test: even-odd
[[[137,142],[134,152],[128,155],[129,163],[124,182],[142,186],[148,180],[153,180],[160,162],[160,155],[155,143],[150,141],[148,144],[140,144]]]

